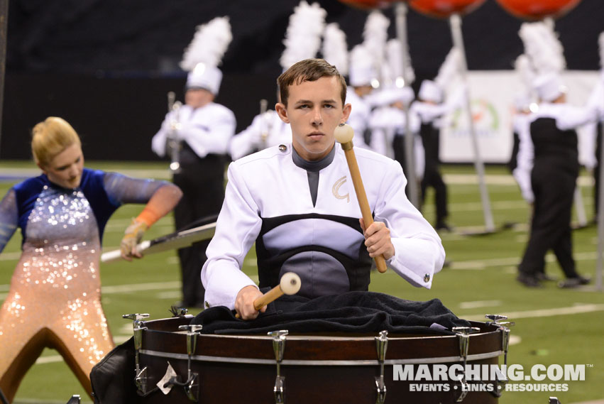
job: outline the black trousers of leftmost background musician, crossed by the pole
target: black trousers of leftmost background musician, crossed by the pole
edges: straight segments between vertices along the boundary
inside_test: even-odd
[[[224,200],[224,157],[208,155],[198,158],[185,148],[181,154],[181,172],[174,175],[174,183],[182,190],[182,198],[174,209],[178,230],[190,227],[204,217],[220,212]],[[202,225],[200,222],[197,224]],[[207,260],[209,240],[200,241],[178,250],[182,275],[182,304],[187,307],[202,307],[204,287],[202,267]]]

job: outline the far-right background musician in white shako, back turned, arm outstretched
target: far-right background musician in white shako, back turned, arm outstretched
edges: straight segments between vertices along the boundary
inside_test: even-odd
[[[554,73],[535,80],[539,109],[520,131],[514,176],[522,196],[533,205],[531,231],[517,280],[529,288],[541,286],[545,254],[550,249],[566,275],[559,286],[589,283],[579,275],[573,259],[571,208],[579,171],[575,128],[594,121],[595,109],[566,104],[566,87]]]

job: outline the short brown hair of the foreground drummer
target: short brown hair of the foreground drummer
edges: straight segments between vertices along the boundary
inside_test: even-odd
[[[340,82],[340,95],[342,105],[346,103],[346,80],[334,65],[324,59],[304,59],[296,62],[277,78],[277,85],[281,95],[281,103],[287,107],[287,97],[290,95],[290,86],[303,82],[314,82],[321,77],[337,77]]]

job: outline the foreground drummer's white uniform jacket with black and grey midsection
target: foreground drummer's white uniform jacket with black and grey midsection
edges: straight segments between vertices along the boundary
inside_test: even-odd
[[[352,288],[356,280],[334,263],[333,251],[341,254],[344,261],[360,261],[363,256],[368,258],[368,253],[358,226],[361,210],[346,157],[339,143],[335,147],[334,160],[319,172],[314,206],[307,172],[293,162],[290,144],[281,148],[285,150],[272,147],[231,163],[216,234],[207,249],[208,260],[202,271],[207,305],[233,309],[239,290],[255,285],[241,271],[243,259],[255,241],[257,251],[260,245],[272,256],[300,251],[290,256],[283,267],[297,269],[302,288],[304,278],[328,280],[328,286],[316,282],[312,295],[344,293]],[[407,200],[407,180],[400,164],[362,148],[355,148],[355,152],[374,219],[390,229],[395,256],[387,261],[388,266],[412,285],[430,288],[434,273],[442,268],[445,253],[436,231]],[[303,248],[309,245],[312,251]],[[325,266],[329,267],[329,277]],[[280,275],[283,270],[276,268]],[[368,268],[365,271],[368,285]],[[263,286],[260,263],[259,275]]]

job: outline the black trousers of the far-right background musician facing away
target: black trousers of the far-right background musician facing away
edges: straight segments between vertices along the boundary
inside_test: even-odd
[[[545,254],[554,251],[564,275],[577,275],[573,259],[571,209],[578,170],[556,170],[552,162],[535,163],[531,173],[534,212],[520,272],[534,276],[545,266]]]

